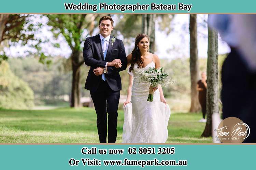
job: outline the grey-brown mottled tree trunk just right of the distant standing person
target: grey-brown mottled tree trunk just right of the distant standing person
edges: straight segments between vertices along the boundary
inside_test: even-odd
[[[207,122],[202,137],[212,136],[212,115],[218,108],[218,33],[208,27]]]

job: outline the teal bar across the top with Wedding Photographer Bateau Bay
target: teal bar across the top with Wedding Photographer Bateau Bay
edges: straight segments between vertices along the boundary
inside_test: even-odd
[[[255,0],[12,0],[2,1],[0,13],[256,13]]]

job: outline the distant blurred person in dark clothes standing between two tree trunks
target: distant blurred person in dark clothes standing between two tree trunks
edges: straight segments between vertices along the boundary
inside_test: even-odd
[[[203,118],[199,120],[199,122],[206,122],[205,115],[206,115],[206,89],[207,89],[207,83],[206,83],[206,73],[202,72],[201,74],[201,80],[197,82],[197,91],[199,91],[198,99],[199,103],[202,108]]]

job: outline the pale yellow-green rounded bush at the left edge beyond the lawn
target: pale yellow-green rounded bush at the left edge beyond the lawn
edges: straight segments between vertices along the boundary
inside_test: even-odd
[[[9,64],[0,65],[0,107],[28,109],[34,106],[33,91],[26,82],[15,76]]]

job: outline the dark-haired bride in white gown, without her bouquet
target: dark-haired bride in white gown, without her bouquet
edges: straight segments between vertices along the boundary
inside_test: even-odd
[[[158,56],[148,52],[149,45],[148,36],[139,34],[132,53],[127,56],[131,66],[128,70],[128,94],[124,102],[123,143],[165,143],[168,138],[167,125],[171,112],[161,86],[153,88],[153,102],[148,102],[150,84],[133,79],[138,76],[138,70],[160,68]]]

